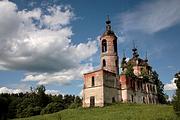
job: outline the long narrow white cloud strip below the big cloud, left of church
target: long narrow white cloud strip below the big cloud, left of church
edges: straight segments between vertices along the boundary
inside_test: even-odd
[[[86,64],[77,68],[63,70],[54,73],[29,73],[22,81],[37,81],[38,84],[58,83],[69,85],[71,80],[82,79],[83,73],[93,70],[92,64]]]

